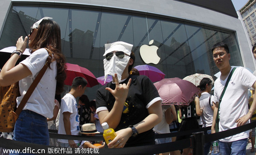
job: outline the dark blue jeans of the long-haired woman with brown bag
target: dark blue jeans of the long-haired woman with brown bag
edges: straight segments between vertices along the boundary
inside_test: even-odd
[[[33,111],[21,111],[13,132],[15,141],[49,145],[47,118]]]

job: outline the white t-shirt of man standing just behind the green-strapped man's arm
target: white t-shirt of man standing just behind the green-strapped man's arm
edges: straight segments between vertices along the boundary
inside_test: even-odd
[[[200,101],[200,108],[204,110],[203,114],[201,115],[203,127],[210,127],[212,126],[212,119],[213,119],[213,110],[212,110],[212,101],[213,97],[211,97],[211,101],[209,104],[209,97],[210,94],[207,92],[204,92],[201,94],[201,97],[199,99]]]

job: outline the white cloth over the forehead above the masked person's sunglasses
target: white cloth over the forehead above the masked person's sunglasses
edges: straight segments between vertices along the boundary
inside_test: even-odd
[[[132,47],[133,45],[126,42],[113,42],[111,44],[105,44],[105,54],[103,54],[103,56],[106,56],[106,54],[113,51],[123,51],[125,54],[130,56]]]

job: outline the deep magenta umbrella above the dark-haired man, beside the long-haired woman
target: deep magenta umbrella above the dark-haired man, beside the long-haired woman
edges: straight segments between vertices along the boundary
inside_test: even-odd
[[[90,70],[83,68],[79,65],[75,65],[75,64],[70,64],[70,63],[66,63],[67,65],[67,69],[66,74],[67,77],[65,79],[65,85],[72,85],[73,79],[77,76],[81,76],[84,77],[84,79],[87,80],[87,87],[93,87],[95,85],[99,85],[96,77],[93,75],[92,72],[90,72]]]

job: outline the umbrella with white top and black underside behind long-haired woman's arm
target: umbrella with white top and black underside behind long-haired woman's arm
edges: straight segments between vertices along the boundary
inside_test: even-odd
[[[2,50],[0,50],[0,69],[2,69],[3,65],[9,60],[9,58],[14,50],[16,50],[15,46],[10,46],[10,47],[3,48]],[[28,56],[30,56],[30,54],[31,53],[30,53],[29,49],[26,48],[24,53],[20,56],[20,59],[18,59],[16,65],[19,64],[24,59],[26,59]]]

